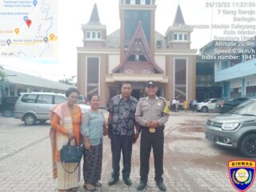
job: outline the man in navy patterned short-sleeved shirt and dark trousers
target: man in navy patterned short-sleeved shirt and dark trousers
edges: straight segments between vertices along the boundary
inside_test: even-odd
[[[112,177],[109,185],[114,185],[119,179],[119,162],[123,158],[122,178],[127,186],[132,184],[130,180],[132,144],[138,138],[139,127],[135,124],[134,114],[138,100],[132,97],[132,85],[130,82],[123,82],[121,88],[122,94],[111,98],[109,105],[109,137],[111,139],[112,151]],[[134,134],[134,126],[136,134]]]

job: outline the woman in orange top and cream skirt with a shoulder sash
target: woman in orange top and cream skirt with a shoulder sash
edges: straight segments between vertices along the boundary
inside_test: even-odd
[[[66,90],[67,102],[58,104],[50,109],[50,140],[53,151],[53,174],[58,178],[58,191],[78,190],[80,180],[80,166],[78,163],[60,162],[59,151],[69,139],[71,145],[75,140],[80,144],[80,126],[82,121],[82,110],[77,105],[79,91],[75,88]],[[73,172],[73,173],[72,173]]]

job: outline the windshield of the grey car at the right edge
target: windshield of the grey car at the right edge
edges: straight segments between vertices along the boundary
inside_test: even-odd
[[[243,102],[241,105],[230,110],[229,114],[241,114],[247,116],[256,116],[256,99]]]

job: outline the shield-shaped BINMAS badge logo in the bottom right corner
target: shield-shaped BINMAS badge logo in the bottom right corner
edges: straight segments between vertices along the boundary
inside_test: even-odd
[[[229,161],[230,181],[235,189],[245,191],[254,183],[255,162],[236,160]]]

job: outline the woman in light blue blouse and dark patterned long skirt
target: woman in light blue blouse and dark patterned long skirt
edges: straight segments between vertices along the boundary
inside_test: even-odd
[[[95,186],[102,186],[98,181],[101,180],[102,174],[102,138],[105,118],[98,110],[98,105],[98,95],[91,96],[90,110],[82,115],[81,134],[86,144],[83,178],[84,187],[89,191],[96,190]]]

